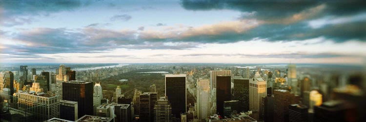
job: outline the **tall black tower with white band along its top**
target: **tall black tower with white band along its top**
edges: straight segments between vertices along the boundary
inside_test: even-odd
[[[165,96],[169,98],[172,114],[181,118],[181,114],[186,113],[185,74],[165,75]]]

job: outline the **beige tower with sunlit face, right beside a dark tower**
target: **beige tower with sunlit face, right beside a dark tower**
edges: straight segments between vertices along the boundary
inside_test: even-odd
[[[259,111],[263,97],[267,96],[267,82],[263,78],[249,80],[249,110]]]

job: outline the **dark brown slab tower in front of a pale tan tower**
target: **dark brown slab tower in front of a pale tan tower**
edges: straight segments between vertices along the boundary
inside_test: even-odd
[[[216,76],[216,109],[224,115],[224,101],[231,100],[231,76]]]

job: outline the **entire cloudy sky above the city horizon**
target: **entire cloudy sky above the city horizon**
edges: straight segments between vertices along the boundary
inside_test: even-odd
[[[347,63],[365,0],[0,0],[0,62]]]

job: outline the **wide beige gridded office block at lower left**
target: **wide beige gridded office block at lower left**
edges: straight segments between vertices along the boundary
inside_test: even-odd
[[[43,122],[60,117],[60,102],[57,96],[36,93],[34,91],[18,92],[18,108],[35,116],[34,121]]]

